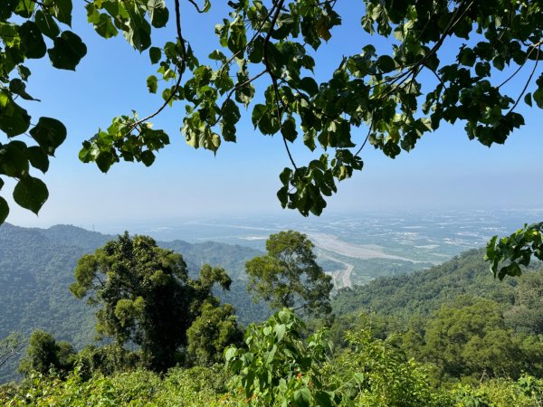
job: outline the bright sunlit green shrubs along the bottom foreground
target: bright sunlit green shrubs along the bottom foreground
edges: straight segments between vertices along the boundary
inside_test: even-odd
[[[307,338],[299,317],[283,309],[249,327],[244,347],[225,351],[226,367],[173,368],[160,378],[147,370],[95,374],[81,364],[65,379],[32,374],[19,385],[0,387],[6,406],[535,406],[543,381],[491,380],[477,387],[434,388],[425,368],[408,359],[393,340],[367,329],[347,336],[334,355],[326,331]]]

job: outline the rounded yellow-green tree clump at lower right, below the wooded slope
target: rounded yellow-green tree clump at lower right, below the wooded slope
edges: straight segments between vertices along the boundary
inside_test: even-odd
[[[543,336],[516,333],[500,304],[461,298],[428,320],[414,320],[402,336],[417,361],[432,364],[439,381],[480,383],[485,378],[543,375]]]

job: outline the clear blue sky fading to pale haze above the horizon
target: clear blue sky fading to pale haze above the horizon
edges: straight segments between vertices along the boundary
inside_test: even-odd
[[[223,2],[215,2],[214,12],[207,15],[194,14],[185,5],[184,33],[199,56],[218,47],[214,24],[225,15],[224,5],[217,7],[219,3]],[[332,71],[343,54],[359,52],[365,44],[376,41],[365,36],[357,24],[361,2],[338,2],[338,6],[339,13],[346,16],[344,25],[319,50],[319,78]],[[69,132],[48,174],[42,176],[50,199],[38,217],[10,204],[8,222],[100,227],[134,219],[153,222],[243,213],[275,213],[280,217],[285,213],[275,196],[281,186],[278,175],[289,165],[282,141],[255,131],[250,115],[238,128],[238,142],[223,143],[214,156],[186,145],[178,130],[185,110],[177,103],[154,120],[155,128],[167,130],[172,145],[158,154],[153,166],[120,164],[103,175],[96,166],[82,164],[77,157],[82,140],[130,109],[147,115],[157,109],[161,99],[148,94],[146,78],[156,66],[148,62],[147,52],[140,55],[121,36],[101,39],[86,23],[80,3],[76,2],[74,12],[73,31],[81,35],[89,50],[77,71],[54,70],[48,61],[28,64],[33,74],[27,90],[42,102],[28,103],[25,108],[33,121],[39,116],[59,118]],[[155,35],[154,42],[161,44],[174,38],[172,19]],[[511,86],[518,88],[519,82]],[[519,111],[525,115],[527,126],[515,132],[505,146],[489,149],[470,141],[463,124],[457,123],[425,136],[414,151],[404,152],[395,160],[366,147],[362,154],[364,170],[338,185],[338,194],[329,199],[328,210],[543,207],[541,111],[527,109],[522,102]],[[360,129],[358,139],[365,133]],[[293,152],[300,163],[310,159],[305,148],[295,146]],[[13,184],[7,183],[2,191],[6,198],[11,194],[10,187]]]

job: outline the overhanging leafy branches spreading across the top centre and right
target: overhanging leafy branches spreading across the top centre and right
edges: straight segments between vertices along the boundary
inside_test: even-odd
[[[255,129],[282,138],[291,167],[281,172],[278,198],[283,207],[303,215],[319,215],[326,197],[337,192],[337,182],[362,169],[360,153],[367,143],[394,158],[443,122],[462,121],[468,137],[490,147],[503,144],[524,124],[515,111],[519,99],[543,107],[543,77],[528,91],[541,59],[538,2],[366,0],[359,9],[360,32],[352,35],[364,39],[361,51],[339,59],[320,83],[313,72],[314,55],[341,24],[336,1],[266,5],[241,0],[228,5],[228,18],[215,26],[220,48],[206,60],[196,58],[178,24],[176,44],[149,48],[151,62],[159,68],[158,77],[148,77],[148,89],[156,93],[158,80],[169,82],[162,92],[164,106],[185,101],[181,131],[187,143],[214,153],[223,141],[236,140],[242,110],[249,109]],[[140,7],[144,15],[146,6]],[[174,8],[181,15],[177,3]],[[207,12],[210,3],[197,8]],[[145,32],[150,28],[146,24]],[[147,49],[148,43],[141,47],[131,41],[127,30],[134,47]],[[369,35],[392,43],[392,52],[377,50]],[[457,51],[446,50],[446,44],[457,40],[462,42]],[[530,66],[525,86],[511,97],[507,83]],[[185,69],[192,76],[182,80]],[[255,99],[257,81],[262,82],[258,89],[263,98]],[[141,142],[148,118],[127,122],[128,130],[119,137]],[[367,128],[361,139],[360,127]],[[102,170],[125,155],[125,147],[110,140],[111,135],[98,133],[85,144],[83,160],[99,163],[88,153],[102,144],[104,151],[110,147],[108,165],[99,164]],[[291,143],[299,139],[316,154],[305,166],[291,155]],[[138,147],[130,148],[134,154],[129,160],[139,153]]]

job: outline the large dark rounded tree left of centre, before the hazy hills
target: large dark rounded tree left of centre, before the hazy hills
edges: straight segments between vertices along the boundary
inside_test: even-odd
[[[189,279],[180,254],[158,247],[148,236],[130,238],[125,232],[94,254],[81,257],[70,290],[98,306],[100,336],[110,336],[118,345],[138,345],[143,364],[165,372],[176,364],[178,349],[188,342],[187,330],[196,319],[206,317],[204,312],[224,318],[233,314],[233,309],[219,312],[211,291],[215,283],[229,289],[231,282],[224,269],[207,264],[198,279]],[[237,331],[235,320],[227,327],[232,332],[210,333],[198,340],[224,336],[227,345]]]

